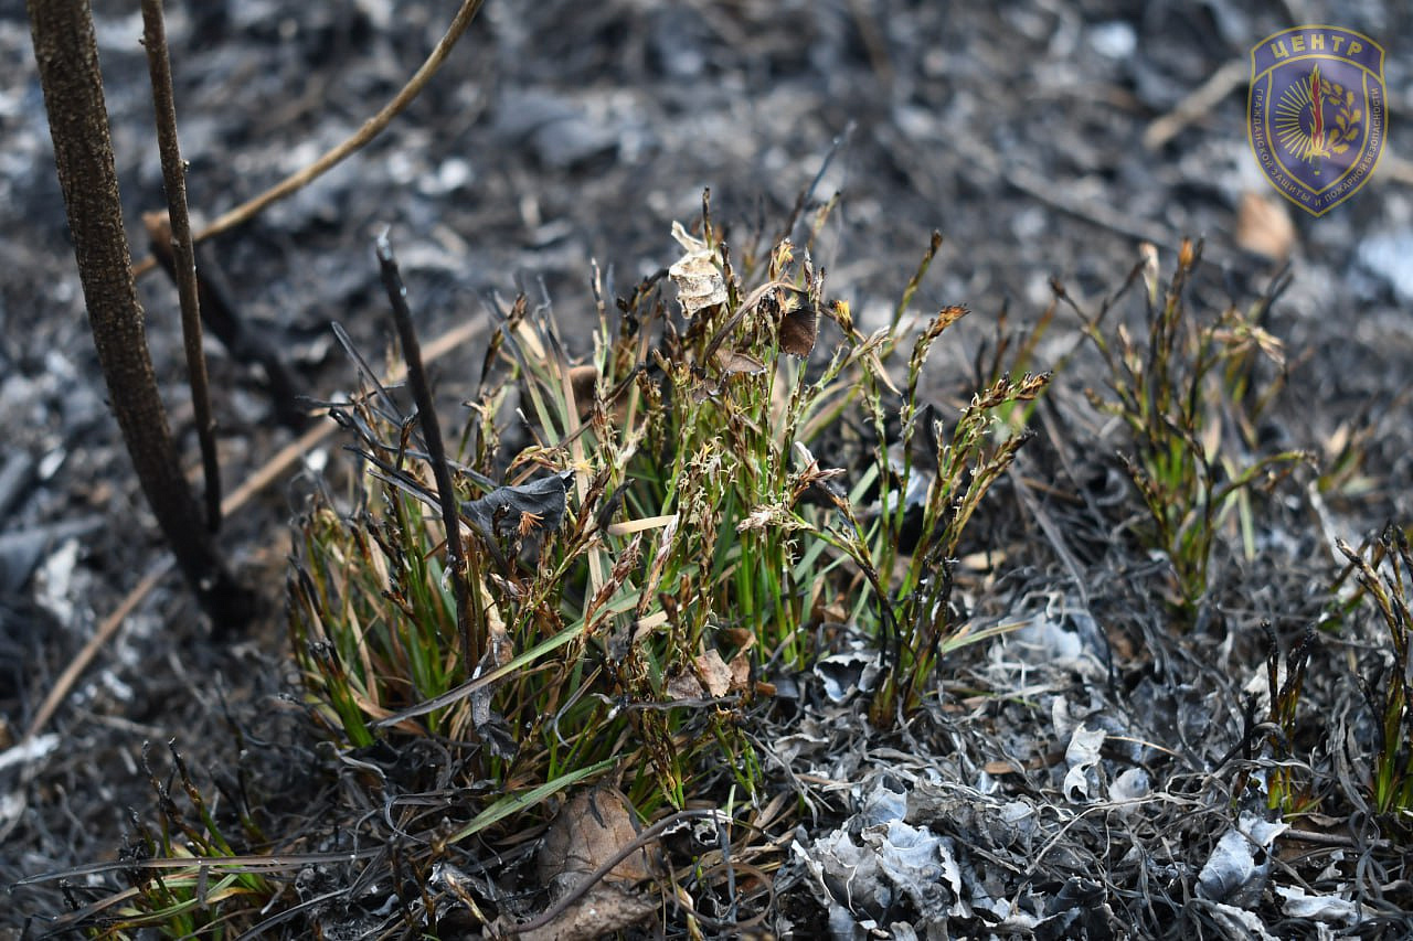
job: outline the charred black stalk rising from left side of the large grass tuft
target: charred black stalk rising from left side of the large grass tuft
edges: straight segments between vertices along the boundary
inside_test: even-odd
[[[407,383],[413,389],[413,400],[417,403],[417,417],[422,424],[422,437],[427,439],[427,456],[431,459],[432,476],[437,479],[437,499],[441,503],[442,524],[447,527],[447,571],[451,572],[452,593],[456,599],[456,630],[461,633],[461,651],[466,661],[466,674],[475,670],[480,658],[480,644],[475,643],[471,630],[471,598],[466,591],[466,564],[471,567],[471,578],[479,581],[475,571],[475,558],[462,554],[461,544],[461,509],[456,506],[456,490],[451,482],[451,465],[447,462],[447,448],[442,445],[441,424],[437,421],[437,410],[432,403],[431,387],[427,383],[427,373],[422,369],[421,345],[417,342],[417,329],[413,326],[413,312],[407,307],[407,285],[397,271],[397,257],[393,254],[393,244],[387,240],[387,232],[377,236],[376,243],[377,264],[383,274],[383,287],[387,290],[387,300],[393,305],[393,319],[397,324],[397,336],[403,343],[403,360],[407,363]],[[479,612],[478,612],[478,622]]]

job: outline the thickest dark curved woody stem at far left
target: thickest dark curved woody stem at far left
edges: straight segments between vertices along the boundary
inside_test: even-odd
[[[86,0],[28,0],[27,6],[54,162],[113,414],[188,584],[218,627],[237,627],[249,620],[253,596],[229,575],[206,531],[153,376],[123,232],[92,11]]]

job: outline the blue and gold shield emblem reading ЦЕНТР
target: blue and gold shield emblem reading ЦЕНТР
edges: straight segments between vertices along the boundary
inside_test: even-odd
[[[1368,182],[1383,151],[1383,47],[1352,30],[1303,25],[1251,51],[1246,134],[1266,179],[1323,216]]]

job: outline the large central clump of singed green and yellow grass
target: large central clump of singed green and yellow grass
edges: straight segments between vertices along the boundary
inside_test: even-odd
[[[294,653],[345,747],[480,743],[461,783],[487,797],[438,846],[507,838],[593,780],[644,819],[732,788],[759,804],[769,756],[749,729],[777,678],[869,639],[870,715],[892,725],[988,636],[950,605],[952,558],[1026,439],[1006,415],[1048,377],[996,376],[945,420],[917,390],[962,308],[918,325],[904,302],[865,335],[808,251],[733,257],[702,232],[677,226],[681,259],[616,309],[595,278],[585,362],[548,309],[497,307],[448,462],[461,567],[397,390],[333,408],[360,466],[300,527]],[[906,393],[889,373],[903,350]]]

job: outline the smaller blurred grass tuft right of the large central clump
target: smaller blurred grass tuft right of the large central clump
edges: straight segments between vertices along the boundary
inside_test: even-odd
[[[1171,602],[1181,619],[1197,622],[1208,596],[1208,564],[1222,527],[1239,520],[1246,555],[1255,554],[1251,497],[1296,466],[1311,462],[1301,451],[1260,454],[1256,420],[1283,387],[1284,353],[1262,329],[1266,311],[1284,288],[1276,278],[1246,312],[1228,308],[1214,321],[1188,316],[1187,291],[1201,263],[1202,246],[1184,240],[1171,280],[1159,280],[1157,250],[1094,316],[1056,285],[1061,301],[1082,319],[1084,335],[1108,367],[1104,393],[1088,390],[1096,408],[1119,418],[1129,432],[1123,466],[1143,506],[1139,538],[1171,564]],[[1122,324],[1106,335],[1102,321],[1115,302],[1142,281],[1147,336]],[[1277,369],[1258,381],[1259,362]]]

